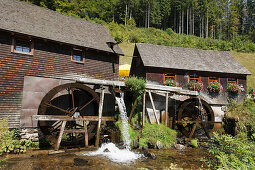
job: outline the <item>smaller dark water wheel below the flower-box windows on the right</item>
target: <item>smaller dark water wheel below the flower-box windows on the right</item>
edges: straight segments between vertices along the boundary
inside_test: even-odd
[[[204,100],[188,99],[180,105],[177,127],[188,139],[204,135],[210,138],[213,126],[214,112]]]

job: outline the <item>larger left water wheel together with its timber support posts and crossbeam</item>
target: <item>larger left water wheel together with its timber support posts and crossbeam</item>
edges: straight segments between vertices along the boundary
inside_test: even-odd
[[[95,141],[98,145],[101,120],[113,121],[112,117],[102,117],[103,99],[104,89],[101,89],[99,98],[84,84],[63,84],[44,96],[34,119],[39,120],[42,132],[55,143],[56,150],[65,133],[78,142],[83,139],[85,146],[97,134]]]

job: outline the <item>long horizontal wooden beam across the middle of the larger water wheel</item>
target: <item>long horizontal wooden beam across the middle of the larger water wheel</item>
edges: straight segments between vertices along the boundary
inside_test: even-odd
[[[79,118],[72,118],[69,116],[58,116],[58,115],[33,115],[33,120],[39,121],[76,121],[76,120],[88,120],[88,121],[98,121],[98,116],[81,116]],[[115,121],[113,116],[103,116],[102,121]]]

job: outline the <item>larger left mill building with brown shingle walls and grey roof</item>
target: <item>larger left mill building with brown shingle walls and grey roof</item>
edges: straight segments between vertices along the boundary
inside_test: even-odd
[[[0,9],[0,117],[8,117],[10,127],[37,126],[31,116],[38,114],[44,96],[75,78],[118,80],[123,53],[104,26],[18,0],[0,0]],[[77,93],[73,101],[80,105],[84,96],[77,89],[98,104],[94,86],[61,88],[69,96]],[[52,101],[46,107],[61,103],[62,98],[48,97]],[[75,107],[65,112],[74,114]]]

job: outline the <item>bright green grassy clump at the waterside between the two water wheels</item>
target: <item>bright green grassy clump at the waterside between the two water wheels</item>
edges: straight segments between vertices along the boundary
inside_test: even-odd
[[[156,146],[160,141],[163,148],[170,148],[175,143],[176,131],[163,124],[146,123],[139,138],[139,148],[148,147],[148,144]]]

